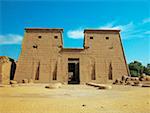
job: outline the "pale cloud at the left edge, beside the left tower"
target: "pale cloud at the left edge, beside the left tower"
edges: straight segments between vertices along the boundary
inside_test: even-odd
[[[22,39],[18,34],[0,35],[0,44],[21,44]]]

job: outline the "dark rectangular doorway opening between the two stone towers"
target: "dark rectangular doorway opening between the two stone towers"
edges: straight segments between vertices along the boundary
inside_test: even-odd
[[[68,84],[79,84],[79,59],[68,59]]]

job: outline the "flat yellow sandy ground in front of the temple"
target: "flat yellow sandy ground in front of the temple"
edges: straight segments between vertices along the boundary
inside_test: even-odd
[[[45,84],[0,87],[0,113],[150,113],[150,88]]]

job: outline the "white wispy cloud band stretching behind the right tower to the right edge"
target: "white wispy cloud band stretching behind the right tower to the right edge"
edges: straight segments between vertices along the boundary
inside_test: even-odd
[[[119,29],[121,30],[122,39],[147,38],[150,34],[150,31],[148,30],[149,21],[150,18],[143,19],[143,21],[137,24],[134,24],[133,22],[129,22],[127,24],[116,24],[116,22],[109,22],[96,27],[96,29]],[[84,37],[83,31],[84,29],[70,30],[67,35],[69,38],[82,39]]]

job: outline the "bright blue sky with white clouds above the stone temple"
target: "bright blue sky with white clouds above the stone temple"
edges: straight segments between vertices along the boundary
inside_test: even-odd
[[[0,56],[18,59],[26,27],[64,28],[64,47],[83,29],[121,29],[127,62],[150,63],[149,0],[0,0]]]

